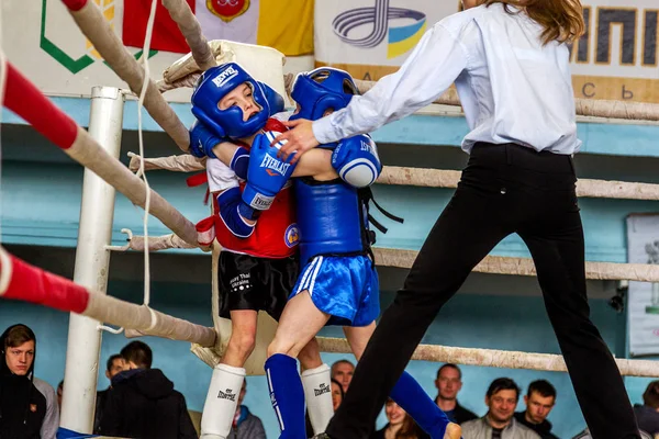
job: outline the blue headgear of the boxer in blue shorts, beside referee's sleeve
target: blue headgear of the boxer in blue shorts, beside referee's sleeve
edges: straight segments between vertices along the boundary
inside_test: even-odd
[[[300,111],[290,120],[323,117],[328,109],[340,110],[348,105],[355,94],[359,94],[353,77],[332,67],[320,67],[298,75],[291,98],[300,105]]]

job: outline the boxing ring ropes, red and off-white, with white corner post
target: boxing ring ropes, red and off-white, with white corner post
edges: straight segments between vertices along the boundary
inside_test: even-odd
[[[148,61],[139,63],[133,58],[123,47],[93,1],[63,0],[77,25],[105,61],[129,85],[130,90],[141,97],[141,103],[177,146],[182,151],[187,151],[189,148],[188,130],[164,99],[163,92],[179,87],[191,87],[201,71],[216,65],[217,60],[227,60],[226,56],[234,56],[235,54],[230,54],[234,46],[226,42],[209,43],[201,34],[200,25],[186,1],[163,0],[161,2],[186,36],[191,54],[167,69],[161,80],[154,81],[148,75]],[[150,23],[153,25],[153,14]],[[145,50],[145,53],[148,52]],[[237,56],[239,58],[239,55]],[[148,288],[146,288],[147,292],[143,305],[130,304],[104,294],[109,254],[112,250],[144,251],[145,257],[147,257],[149,251],[167,248],[199,248],[194,224],[157,192],[148,188],[145,173],[150,169],[203,170],[205,169],[204,161],[190,155],[147,159],[143,158],[144,154],[142,153],[141,155],[133,155],[130,168],[126,168],[118,159],[122,130],[123,92],[116,89],[94,89],[92,92],[92,117],[88,133],[79,127],[71,117],[57,109],[11,63],[3,64],[0,85],[2,85],[4,77],[4,95],[0,91],[3,105],[23,117],[74,160],[85,166],[89,173],[92,173],[92,177],[98,176],[99,179],[104,181],[103,184],[107,183],[113,189],[110,189],[108,194],[102,196],[103,207],[93,209],[97,211],[93,217],[91,213],[85,213],[90,207],[86,206],[86,194],[83,193],[80,236],[82,234],[90,235],[89,232],[82,230],[86,227],[83,223],[89,222],[102,222],[104,232],[99,234],[100,237],[97,240],[88,240],[87,245],[89,247],[86,247],[86,249],[78,248],[77,252],[88,251],[88,255],[94,255],[96,258],[91,258],[94,263],[93,267],[88,267],[90,270],[87,271],[87,274],[80,279],[75,279],[78,283],[30,266],[0,247],[0,296],[32,302],[80,315],[78,323],[75,323],[75,319],[71,318],[71,325],[78,325],[76,326],[77,331],[88,334],[91,340],[82,348],[89,350],[89,352],[79,353],[81,357],[75,359],[75,361],[82,363],[82,369],[89,365],[90,362],[98,361],[98,340],[100,340],[98,326],[101,322],[121,326],[126,329],[127,335],[154,335],[190,341],[193,344],[193,351],[203,361],[214,365],[219,361],[231,331],[231,325],[227,326],[226,322],[220,322],[216,318],[215,308],[213,309],[215,325],[213,328],[208,328],[153,309],[148,304]],[[280,92],[288,92],[291,81],[292,76],[284,77],[281,72],[277,78],[269,78],[270,86]],[[372,82],[357,82],[362,92],[372,87]],[[105,100],[104,104],[110,105],[105,110],[99,110],[99,116],[97,117],[94,117],[93,109],[94,98]],[[459,100],[454,91],[449,91],[440,97],[436,103],[459,105]],[[583,116],[603,119],[659,121],[659,105],[622,101],[578,99],[577,113]],[[103,117],[105,119],[104,122],[102,121]],[[96,121],[112,126],[96,127]],[[141,177],[144,179],[141,179]],[[87,179],[86,172],[86,191]],[[458,171],[384,167],[378,182],[395,185],[456,188],[458,180]],[[147,237],[146,234],[145,236],[133,236],[132,232],[126,230],[130,238],[127,245],[109,247],[114,189],[129,198],[133,204],[145,209],[146,212],[161,221],[172,234]],[[97,188],[93,190],[103,191],[104,189]],[[659,184],[579,180],[578,195],[582,198],[659,201]],[[203,248],[203,250],[212,250],[213,266],[216,270],[219,245],[215,244],[212,248]],[[416,256],[416,251],[389,248],[376,248],[375,254],[379,266],[398,268],[410,268]],[[148,261],[148,259],[146,260]],[[81,258],[80,264],[83,263]],[[587,262],[585,268],[587,278],[593,280],[659,282],[659,266],[655,264]],[[103,270],[104,274],[100,275],[99,273]],[[78,271],[77,259],[76,272]],[[535,268],[529,258],[488,256],[474,271],[510,275],[535,275]],[[213,282],[216,283],[216,275],[213,277]],[[146,283],[148,283],[148,279]],[[216,290],[216,284],[214,284],[214,307],[217,306]],[[263,369],[264,347],[267,345],[268,337],[271,337],[273,325],[273,322],[265,318],[259,320],[260,338],[257,341],[257,350],[260,349],[260,351],[253,354],[253,358],[250,358],[252,363],[247,367],[253,373],[258,372],[259,364]],[[69,349],[72,349],[71,333],[72,330],[69,330]],[[94,337],[97,339],[96,344],[92,340]],[[346,340],[320,338],[319,341],[323,351],[350,352]],[[91,349],[89,346],[91,346]],[[96,360],[93,360],[94,357]],[[413,359],[538,371],[567,370],[562,357],[557,354],[434,345],[421,345],[416,349]],[[659,378],[659,362],[627,359],[617,359],[616,362],[623,375]],[[72,365],[69,368],[69,365],[67,354],[66,376],[80,371],[80,368],[76,369]],[[65,387],[62,426],[80,432],[91,430],[93,415],[93,395],[86,391],[91,387],[96,391],[97,376],[93,368],[87,372],[85,376],[76,375],[77,380],[65,378],[67,387]],[[78,387],[71,387],[68,385],[71,381],[79,381],[81,384]]]

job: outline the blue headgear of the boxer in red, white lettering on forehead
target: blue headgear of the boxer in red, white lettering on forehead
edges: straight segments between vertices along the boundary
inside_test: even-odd
[[[260,111],[243,121],[243,110],[220,110],[220,101],[242,83],[253,91]],[[226,63],[204,71],[192,93],[192,114],[219,137],[248,137],[263,128],[272,114],[283,110],[283,99],[267,85],[256,81],[236,63]]]

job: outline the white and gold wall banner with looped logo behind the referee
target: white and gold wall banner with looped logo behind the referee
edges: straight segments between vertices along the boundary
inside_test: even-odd
[[[659,103],[657,0],[582,3],[588,31],[571,50],[576,95]],[[459,8],[453,0],[316,1],[316,65],[377,80],[395,71],[423,33]]]

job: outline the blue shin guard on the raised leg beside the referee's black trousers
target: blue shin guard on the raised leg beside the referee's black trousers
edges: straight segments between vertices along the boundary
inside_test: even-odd
[[[450,420],[411,374],[403,372],[391,390],[391,398],[407,412],[431,438],[444,438]]]

